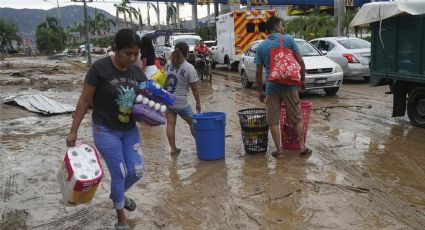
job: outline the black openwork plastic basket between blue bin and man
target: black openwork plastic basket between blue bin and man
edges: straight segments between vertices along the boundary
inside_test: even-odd
[[[266,110],[243,109],[238,112],[238,115],[245,152],[267,152],[269,126],[266,121]]]

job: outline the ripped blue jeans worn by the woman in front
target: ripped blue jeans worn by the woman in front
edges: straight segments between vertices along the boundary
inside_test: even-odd
[[[93,139],[111,175],[111,196],[115,209],[125,204],[124,193],[143,177],[144,159],[139,154],[140,137],[137,127],[112,130],[93,123]]]

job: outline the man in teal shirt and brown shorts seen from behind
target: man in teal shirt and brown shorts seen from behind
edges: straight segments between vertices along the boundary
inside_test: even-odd
[[[259,99],[262,103],[266,102],[267,124],[276,151],[272,156],[276,158],[283,157],[283,148],[280,135],[280,108],[282,102],[286,108],[286,118],[288,123],[293,124],[300,142],[301,155],[310,154],[311,150],[305,146],[303,121],[301,117],[301,106],[297,86],[272,83],[266,80],[265,92],[263,91],[263,66],[266,68],[266,75],[270,73],[270,50],[279,47],[280,37],[283,36],[283,46],[293,51],[295,59],[301,66],[301,90],[305,90],[305,65],[299,52],[299,48],[292,36],[284,34],[282,20],[276,16],[270,17],[266,22],[267,32],[269,36],[258,45],[254,63],[257,64],[256,81],[258,86]]]

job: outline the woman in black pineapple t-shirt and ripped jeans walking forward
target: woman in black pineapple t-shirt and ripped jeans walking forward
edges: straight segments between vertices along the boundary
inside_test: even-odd
[[[121,29],[112,46],[115,55],[91,66],[66,137],[67,146],[75,146],[78,128],[93,101],[93,139],[111,175],[110,197],[118,218],[115,229],[128,229],[124,209],[134,211],[136,203],[124,194],[144,170],[140,136],[131,114],[138,84],[147,80],[134,65],[139,41],[133,30]]]

